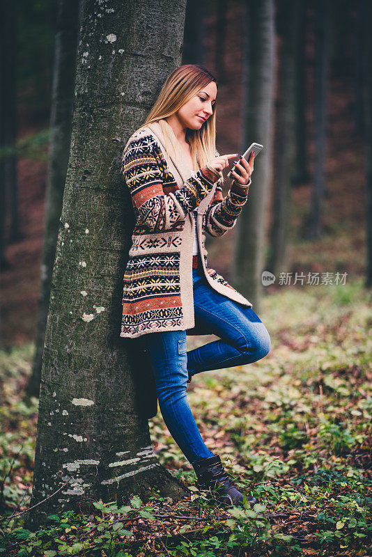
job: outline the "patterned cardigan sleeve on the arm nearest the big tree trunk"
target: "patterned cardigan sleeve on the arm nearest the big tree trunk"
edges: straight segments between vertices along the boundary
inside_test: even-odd
[[[172,230],[211,191],[220,173],[199,168],[178,190],[164,194],[162,170],[151,141],[141,138],[123,152],[121,171],[130,189],[138,219],[149,231]]]

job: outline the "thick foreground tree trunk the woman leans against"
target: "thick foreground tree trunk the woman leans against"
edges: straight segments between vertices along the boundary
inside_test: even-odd
[[[42,357],[29,526],[92,501],[184,490],[157,460],[139,414],[137,355],[121,338],[134,217],[120,166],[180,63],[185,1],[84,0],[72,137]],[[141,389],[146,390],[146,385]],[[58,494],[50,499],[45,498]]]

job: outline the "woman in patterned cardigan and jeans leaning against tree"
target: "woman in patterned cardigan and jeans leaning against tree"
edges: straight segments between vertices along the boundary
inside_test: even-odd
[[[140,338],[155,376],[162,416],[194,467],[197,485],[222,503],[242,505],[219,455],[206,447],[187,402],[196,373],[240,366],[270,351],[270,336],[251,303],[208,268],[204,245],[235,226],[247,202],[254,157],[222,196],[222,170],[238,153],[215,150],[217,81],[182,65],[166,79],[144,126],[123,152],[122,172],[136,224],[125,269],[121,336]],[[219,340],[187,352],[187,334]],[[248,499],[252,505],[256,499]]]

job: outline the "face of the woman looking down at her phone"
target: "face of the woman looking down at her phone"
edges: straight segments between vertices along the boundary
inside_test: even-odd
[[[200,130],[203,123],[212,116],[212,107],[217,96],[215,81],[210,81],[194,97],[188,100],[177,112],[176,116],[183,127]]]

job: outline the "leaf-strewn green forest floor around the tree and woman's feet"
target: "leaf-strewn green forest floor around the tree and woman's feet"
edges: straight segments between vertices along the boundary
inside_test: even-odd
[[[97,503],[94,517],[65,512],[36,533],[29,504],[37,400],[21,401],[32,344],[0,354],[0,527],[6,556],[198,557],[369,554],[371,538],[371,295],[362,281],[281,287],[263,299],[272,339],[265,359],[203,372],[189,402],[203,439],[222,457],[251,510],[207,505],[195,475],[166,430],[150,421],[160,462],[190,489],[178,503],[138,497],[118,509]],[[209,340],[209,339],[207,339]],[[189,347],[206,337],[189,337]],[[23,499],[22,499],[23,497]]]

